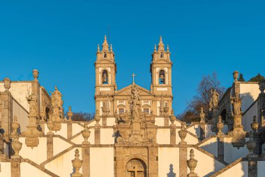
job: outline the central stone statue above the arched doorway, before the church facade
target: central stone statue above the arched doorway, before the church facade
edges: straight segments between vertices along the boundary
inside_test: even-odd
[[[135,87],[135,85],[132,86],[130,107],[132,113],[132,120],[139,120],[140,99],[138,89],[137,87]]]

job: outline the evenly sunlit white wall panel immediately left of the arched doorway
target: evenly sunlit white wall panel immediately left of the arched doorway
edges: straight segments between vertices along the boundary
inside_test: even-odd
[[[90,176],[114,177],[114,148],[90,148]]]

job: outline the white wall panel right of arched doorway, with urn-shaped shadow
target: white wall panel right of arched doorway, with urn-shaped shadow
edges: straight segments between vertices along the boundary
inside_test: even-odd
[[[179,176],[179,148],[158,148],[158,177],[174,174]]]

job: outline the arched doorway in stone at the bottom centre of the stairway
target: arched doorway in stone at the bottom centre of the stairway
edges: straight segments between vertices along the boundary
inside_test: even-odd
[[[126,177],[146,177],[146,164],[139,159],[132,159],[126,164]]]

